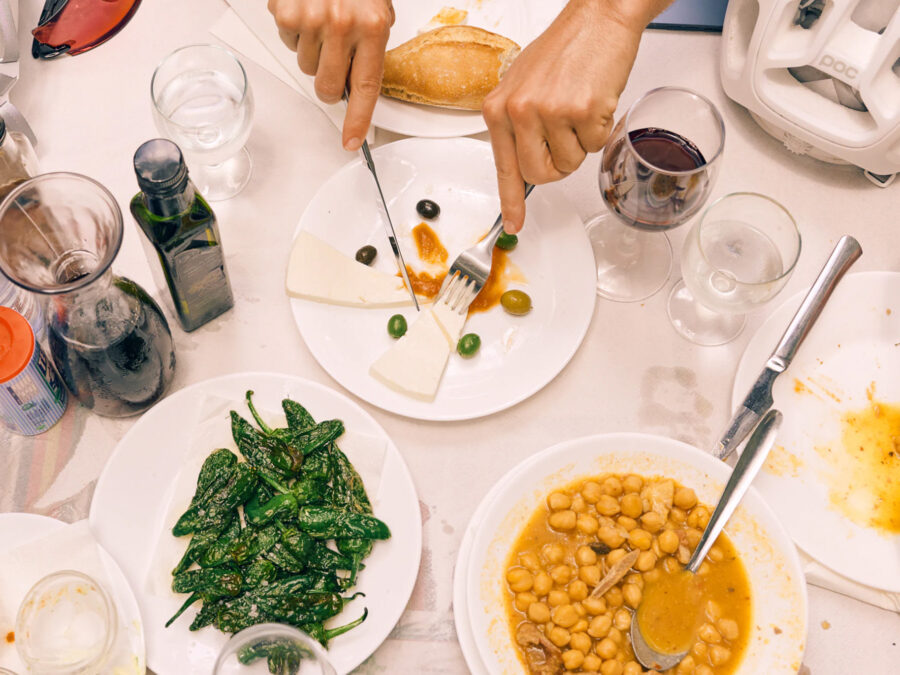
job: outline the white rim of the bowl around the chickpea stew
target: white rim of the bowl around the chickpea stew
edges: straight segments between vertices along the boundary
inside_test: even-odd
[[[504,601],[505,565],[522,527],[555,487],[607,472],[667,476],[713,504],[730,469],[685,443],[633,433],[561,443],[515,467],[485,497],[487,510],[475,525],[467,565],[468,618],[477,655],[488,672],[525,672]],[[753,594],[753,634],[736,673],[796,673],[807,627],[806,584],[797,550],[752,489],[725,531],[740,552]]]

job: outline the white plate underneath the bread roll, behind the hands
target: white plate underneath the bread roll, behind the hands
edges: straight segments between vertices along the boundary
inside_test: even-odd
[[[414,38],[446,6],[467,10],[466,25],[499,33],[524,48],[550,25],[562,5],[558,0],[395,0],[397,20],[391,28],[388,49]],[[419,138],[452,138],[487,130],[480,111],[418,105],[387,96],[379,97],[372,123]]]

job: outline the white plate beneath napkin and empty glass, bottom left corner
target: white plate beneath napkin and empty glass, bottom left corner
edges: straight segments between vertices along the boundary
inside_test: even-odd
[[[0,541],[7,549],[13,549],[28,542],[48,536],[57,530],[68,527],[66,523],[56,518],[39,516],[35,513],[0,513]],[[113,557],[103,548],[97,546],[100,561],[109,575],[112,588],[106,589],[115,601],[116,611],[119,613],[120,624],[124,624],[135,630],[136,645],[140,645],[141,653],[137,656],[135,668],[143,672],[145,656],[141,635],[141,613],[135,600],[133,589],[122,573],[121,568]],[[21,667],[21,662],[15,663],[0,659],[0,666],[10,668]]]

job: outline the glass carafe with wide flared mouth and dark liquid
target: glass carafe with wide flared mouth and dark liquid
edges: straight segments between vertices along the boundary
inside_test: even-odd
[[[122,212],[85,176],[37,176],[0,204],[0,271],[47,297],[57,370],[81,403],[110,417],[149,408],[175,373],[159,306],[112,272],[121,244]]]

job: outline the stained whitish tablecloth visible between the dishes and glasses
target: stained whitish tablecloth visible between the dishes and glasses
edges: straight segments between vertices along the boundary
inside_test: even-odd
[[[23,56],[12,99],[39,137],[44,171],[86,174],[116,196],[126,224],[114,268],[161,298],[127,212],[137,191],[131,156],[158,135],[148,93],[154,66],[176,47],[215,41],[208,28],[226,4],[144,2],[109,43],[78,57],[38,62],[29,55],[28,29],[41,4],[21,2]],[[856,270],[900,270],[900,182],[879,189],[857,169],[785,151],[722,92],[719,42],[714,35],[647,33],[620,110],[641,92],[670,84],[693,87],[720,106],[728,138],[713,197],[763,192],[787,205],[801,226],[803,253],[782,297],[812,281],[844,233],[856,236],[865,250]],[[248,370],[292,373],[340,389],[304,345],[282,288],[286,251],[303,209],[324,180],[355,155],[341,150],[338,133],[315,106],[255,63],[245,59],[244,64],[256,97],[248,144],[254,173],[237,198],[214,204],[236,306],[191,334],[170,320],[178,355],[172,390]],[[376,141],[396,138],[379,132]],[[590,157],[564,182],[583,217],[602,208],[597,163],[597,156]],[[672,233],[676,255],[685,233],[685,228]],[[701,348],[674,333],[665,299],[663,292],[637,304],[598,300],[584,344],[561,375],[531,399],[487,419],[423,423],[362,404],[410,466],[421,502],[424,551],[406,613],[358,672],[466,672],[451,607],[456,552],[482,495],[523,458],[560,440],[609,431],[712,445],[729,416],[737,360],[766,310],[751,316],[747,330],[731,344]],[[66,521],[85,517],[104,462],[133,423],[70,405],[60,424],[36,438],[0,432],[0,511]],[[809,619],[806,672],[897,672],[900,616],[811,587]]]

